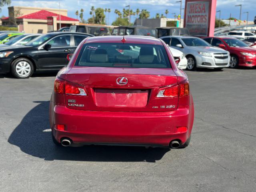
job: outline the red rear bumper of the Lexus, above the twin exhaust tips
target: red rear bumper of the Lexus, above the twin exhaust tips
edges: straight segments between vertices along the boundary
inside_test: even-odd
[[[50,119],[58,142],[68,137],[75,144],[169,146],[171,140],[184,144],[190,137],[194,106],[173,112],[96,112],[55,105]],[[66,130],[56,130],[56,124],[64,124]]]

